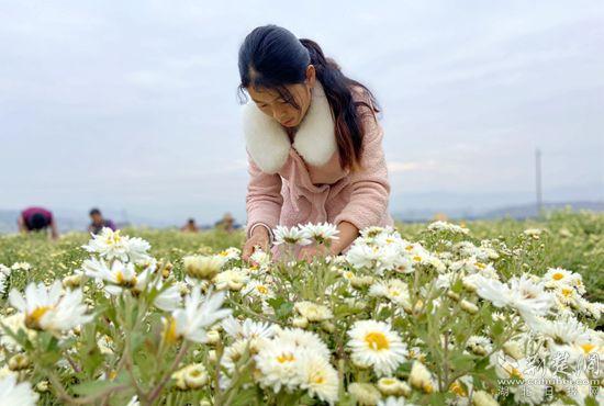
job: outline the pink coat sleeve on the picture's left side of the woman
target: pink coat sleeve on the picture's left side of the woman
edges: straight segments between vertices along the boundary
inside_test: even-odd
[[[281,177],[278,173],[265,173],[258,168],[248,154],[249,183],[247,185],[246,211],[249,237],[253,228],[264,225],[269,234],[279,224],[283,196],[281,195]]]

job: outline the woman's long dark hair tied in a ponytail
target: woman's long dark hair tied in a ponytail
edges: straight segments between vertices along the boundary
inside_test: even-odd
[[[316,79],[323,86],[325,95],[335,119],[335,134],[342,168],[357,170],[362,165],[362,115],[380,112],[373,93],[362,83],[346,77],[332,58],[312,40],[298,40],[290,31],[277,25],[256,27],[239,48],[239,94],[245,101],[244,90],[273,89],[281,98],[300,109],[290,94],[287,84],[302,83],[306,79],[306,68],[313,65]],[[354,101],[353,87],[359,87],[367,101]]]

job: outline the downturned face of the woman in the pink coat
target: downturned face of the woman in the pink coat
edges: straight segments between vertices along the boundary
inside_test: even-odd
[[[311,89],[315,83],[314,66],[309,65],[306,68],[306,80],[304,83],[288,84],[292,98],[295,100],[299,109],[286,102],[279,92],[273,89],[257,89],[247,88],[249,97],[262,113],[273,117],[284,127],[295,127],[302,122],[309,106],[311,105]]]

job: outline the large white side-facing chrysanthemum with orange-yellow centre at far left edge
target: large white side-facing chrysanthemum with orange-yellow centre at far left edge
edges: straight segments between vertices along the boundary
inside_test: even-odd
[[[86,314],[81,290],[65,292],[60,281],[55,281],[51,287],[32,282],[25,287],[25,295],[13,289],[9,301],[25,315],[25,326],[33,329],[57,334],[92,319]]]

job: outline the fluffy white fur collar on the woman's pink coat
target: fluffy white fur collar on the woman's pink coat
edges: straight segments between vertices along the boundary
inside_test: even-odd
[[[281,124],[262,113],[253,100],[243,109],[246,148],[266,173],[277,173],[286,163],[291,143]],[[337,148],[335,123],[323,86],[315,81],[311,105],[293,139],[293,147],[312,166],[326,163]]]

